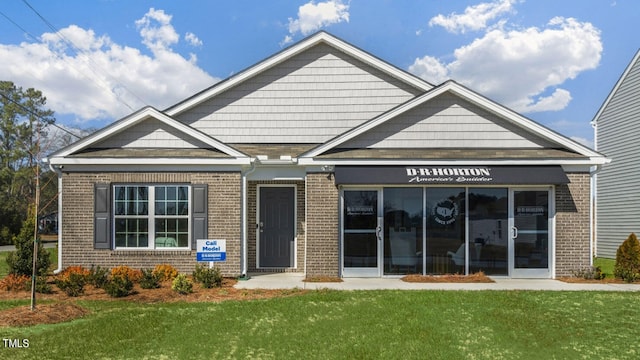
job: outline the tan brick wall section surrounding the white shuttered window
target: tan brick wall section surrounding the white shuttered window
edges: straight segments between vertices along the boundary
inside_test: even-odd
[[[241,179],[239,172],[220,173],[65,173],[62,178],[62,266],[127,265],[151,268],[171,264],[190,273],[196,265],[192,250],[96,250],[94,184],[208,184],[208,237],[227,240],[227,260],[219,264],[225,276],[240,274]]]

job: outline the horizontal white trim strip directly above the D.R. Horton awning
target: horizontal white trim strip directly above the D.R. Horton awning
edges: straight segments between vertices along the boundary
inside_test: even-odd
[[[416,160],[416,159],[371,159],[371,160],[353,160],[353,159],[327,159],[316,160],[311,158],[299,158],[298,164],[305,166],[312,165],[562,165],[562,166],[593,166],[601,164],[600,159],[589,160]]]

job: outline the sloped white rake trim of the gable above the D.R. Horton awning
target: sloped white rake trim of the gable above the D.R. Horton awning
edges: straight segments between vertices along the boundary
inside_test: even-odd
[[[607,159],[588,147],[581,145],[563,135],[556,133],[553,130],[550,130],[547,127],[544,127],[526,117],[502,106],[499,105],[484,96],[479,95],[478,93],[471,91],[470,89],[456,83],[455,81],[449,80],[445,83],[439,85],[436,88],[433,88],[431,91],[426,92],[425,94],[418,96],[412,100],[405,102],[397,106],[396,108],[366,122],[360,126],[357,126],[335,138],[327,141],[324,144],[321,144],[310,151],[300,155],[301,158],[313,158],[318,157],[330,150],[333,150],[339,147],[341,144],[346,143],[347,141],[355,138],[358,135],[361,135],[367,131],[370,131],[381,124],[384,124],[391,119],[397,117],[398,115],[405,113],[425,102],[430,101],[438,95],[441,95],[445,92],[452,93],[456,96],[459,96],[466,101],[469,101],[476,106],[479,106],[511,123],[516,126],[523,128],[524,130],[532,133],[535,136],[539,136],[547,141],[558,144],[559,146],[566,148],[568,150],[574,151],[578,154],[583,155],[584,157],[588,157],[594,164],[603,164],[607,162]]]

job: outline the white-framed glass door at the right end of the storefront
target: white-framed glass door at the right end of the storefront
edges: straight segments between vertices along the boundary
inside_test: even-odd
[[[512,190],[511,276],[551,277],[550,196],[548,189]]]

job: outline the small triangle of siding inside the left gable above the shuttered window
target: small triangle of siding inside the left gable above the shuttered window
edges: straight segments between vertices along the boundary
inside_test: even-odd
[[[199,140],[183,139],[184,134],[161,121],[148,119],[96,144],[96,148],[210,148]]]

